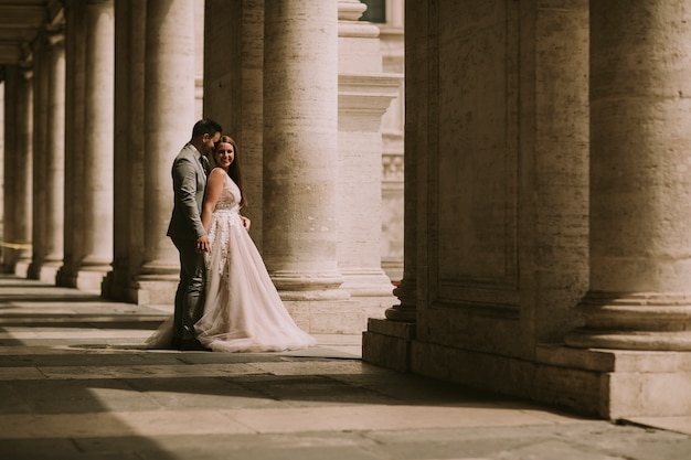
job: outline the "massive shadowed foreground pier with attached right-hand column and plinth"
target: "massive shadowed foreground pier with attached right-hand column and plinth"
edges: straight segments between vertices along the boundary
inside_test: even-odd
[[[406,2],[404,278],[363,360],[612,419],[690,415],[688,2],[456,4]],[[476,137],[482,117],[514,141]],[[514,192],[482,195],[507,189],[468,164]]]

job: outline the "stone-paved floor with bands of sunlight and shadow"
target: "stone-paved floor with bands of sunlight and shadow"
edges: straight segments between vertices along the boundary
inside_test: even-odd
[[[689,419],[618,424],[398,374],[359,335],[148,351],[168,313],[0,277],[0,459],[688,460]]]

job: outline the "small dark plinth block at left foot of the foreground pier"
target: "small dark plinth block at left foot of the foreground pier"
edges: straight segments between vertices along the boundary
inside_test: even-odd
[[[411,371],[415,323],[370,319],[362,334],[362,361],[398,372]]]

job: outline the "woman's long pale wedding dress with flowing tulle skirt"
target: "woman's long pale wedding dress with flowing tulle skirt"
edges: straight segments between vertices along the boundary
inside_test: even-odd
[[[290,318],[240,218],[240,189],[227,176],[211,216],[204,313],[199,341],[216,352],[276,352],[317,344]],[[172,322],[171,322],[172,327]],[[161,327],[163,328],[163,327]],[[159,330],[151,341],[164,335]]]

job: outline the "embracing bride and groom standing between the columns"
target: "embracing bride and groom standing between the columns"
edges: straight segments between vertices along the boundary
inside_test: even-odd
[[[317,342],[290,318],[249,237],[238,163],[237,145],[210,119],[194,125],[173,161],[168,236],[180,253],[180,284],[174,315],[150,347],[267,352]]]

